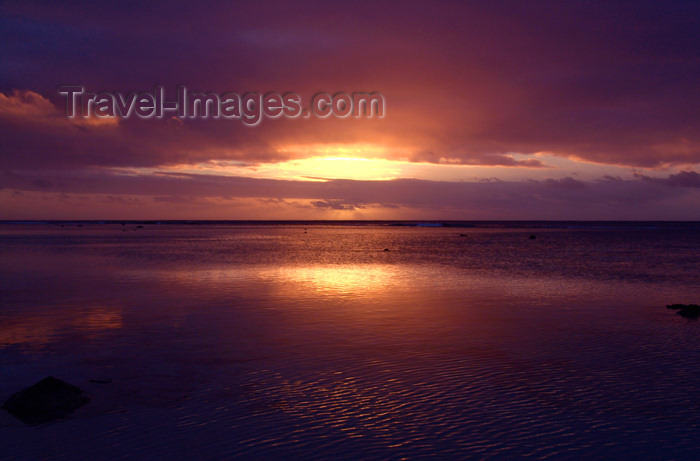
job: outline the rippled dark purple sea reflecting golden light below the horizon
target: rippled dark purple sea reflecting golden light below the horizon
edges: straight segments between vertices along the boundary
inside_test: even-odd
[[[700,457],[697,223],[142,225],[0,224],[0,401],[91,398],[0,458]]]

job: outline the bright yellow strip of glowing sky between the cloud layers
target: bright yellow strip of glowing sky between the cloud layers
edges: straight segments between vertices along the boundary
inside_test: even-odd
[[[199,164],[131,169],[131,172],[145,175],[182,173],[305,182],[395,179],[441,182],[520,181],[523,177],[545,180],[568,176],[579,180],[595,180],[605,174],[614,173],[620,177],[629,177],[634,173],[630,168],[603,167],[547,152],[510,153],[518,161],[537,157],[547,165],[547,168],[532,169],[512,165],[411,161],[411,154],[405,149],[393,149],[386,145],[371,143],[289,144],[276,148],[275,151],[288,160],[249,163],[245,160],[221,159]]]

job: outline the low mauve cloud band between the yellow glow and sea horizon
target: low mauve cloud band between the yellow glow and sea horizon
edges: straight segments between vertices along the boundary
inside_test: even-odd
[[[4,173],[0,180],[6,185],[0,196],[15,219],[33,218],[31,210],[43,219],[700,219],[695,172],[586,182],[571,177],[318,182],[101,172]],[[251,217],[259,209],[266,215]]]

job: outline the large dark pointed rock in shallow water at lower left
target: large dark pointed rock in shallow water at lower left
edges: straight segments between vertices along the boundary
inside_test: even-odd
[[[78,387],[49,376],[10,396],[3,408],[27,424],[63,418],[90,399]]]

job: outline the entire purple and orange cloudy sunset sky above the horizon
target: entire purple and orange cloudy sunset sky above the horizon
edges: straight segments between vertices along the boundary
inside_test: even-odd
[[[0,219],[700,220],[700,3],[5,1]],[[383,118],[66,117],[377,92]]]

